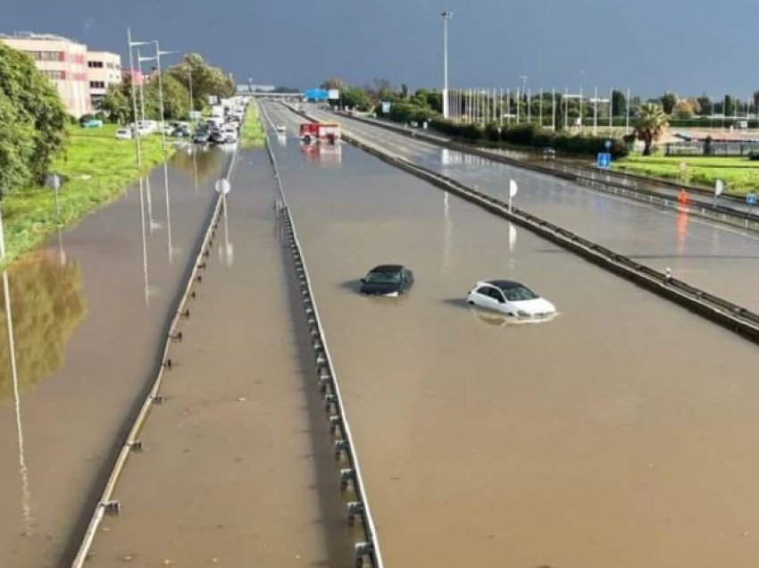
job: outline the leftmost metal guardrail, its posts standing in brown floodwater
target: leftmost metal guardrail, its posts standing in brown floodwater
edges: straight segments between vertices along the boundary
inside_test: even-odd
[[[226,180],[229,180],[236,161],[237,150],[235,150],[235,155],[233,155],[229,161],[229,168],[224,176]],[[121,474],[123,473],[124,467],[129,460],[129,455],[132,452],[139,452],[142,450],[142,441],[139,439],[139,433],[142,430],[146,419],[149,416],[151,409],[153,408],[153,405],[163,404],[163,396],[160,394],[160,390],[163,384],[164,373],[170,371],[172,366],[170,357],[171,345],[174,341],[182,340],[182,332],[178,330],[179,323],[183,318],[188,318],[190,316],[190,310],[188,307],[189,301],[192,298],[196,297],[195,288],[203,280],[203,277],[199,272],[204,270],[206,265],[204,259],[210,254],[210,246],[213,244],[213,238],[216,235],[216,229],[221,219],[223,201],[223,196],[220,194],[216,200],[216,204],[213,206],[213,212],[209,217],[208,225],[204,232],[204,238],[197,246],[195,263],[192,270],[189,271],[184,292],[179,297],[177,309],[171,318],[168,333],[166,334],[163,342],[163,355],[161,356],[160,364],[155,374],[154,381],[147,392],[143,404],[140,406],[137,417],[135,418],[134,422],[132,422],[131,428],[129,429],[129,434],[127,435],[127,439],[123,443],[119,455],[116,457],[115,464],[113,464],[113,470],[111,471],[111,474],[105,483],[105,489],[103,490],[103,493],[95,507],[95,511],[92,514],[92,518],[88,524],[87,531],[85,532],[84,538],[82,539],[81,545],[79,546],[79,551],[75,556],[73,563],[71,564],[72,568],[81,568],[81,566],[83,566],[88,561],[90,549],[92,547],[93,541],[95,540],[97,529],[100,526],[100,523],[103,521],[104,515],[119,514],[121,511],[121,502],[114,497],[116,485],[121,479]]]

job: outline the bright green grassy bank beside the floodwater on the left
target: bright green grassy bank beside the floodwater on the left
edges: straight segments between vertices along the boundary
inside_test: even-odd
[[[134,140],[114,138],[117,128],[111,124],[102,129],[69,127],[69,141],[51,168],[63,179],[60,219],[50,188],[23,188],[4,198],[5,263],[38,248],[55,230],[81,220],[138,179]],[[146,173],[162,163],[164,156],[160,136],[141,140],[141,173]],[[172,146],[167,150],[171,152]]]

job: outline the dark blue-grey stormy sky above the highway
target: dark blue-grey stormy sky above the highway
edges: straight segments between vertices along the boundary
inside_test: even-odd
[[[310,88],[328,77],[533,90],[596,85],[645,95],[748,96],[759,88],[759,0],[37,0],[0,31],[31,30],[126,53],[126,28],[196,51],[239,82]],[[166,63],[171,63],[167,58]]]

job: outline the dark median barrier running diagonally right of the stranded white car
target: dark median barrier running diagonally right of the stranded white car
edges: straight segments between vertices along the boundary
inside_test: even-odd
[[[307,120],[319,121],[307,113],[295,111],[291,107],[288,108]],[[438,188],[460,196],[470,203],[479,205],[490,213],[518,223],[522,227],[536,233],[539,237],[546,238],[559,246],[563,246],[605,270],[612,271],[631,280],[661,297],[665,297],[694,313],[719,323],[728,330],[749,338],[755,343],[759,343],[759,314],[751,312],[743,306],[733,304],[724,298],[713,296],[700,288],[690,286],[682,280],[671,278],[671,275],[668,273],[655,271],[643,264],[636,263],[629,257],[615,253],[613,250],[597,245],[586,238],[581,238],[570,230],[565,230],[551,222],[524,212],[517,207],[509,207],[507,203],[500,199],[488,196],[463,183],[423,168],[399,155],[393,155],[387,150],[372,145],[352,134],[344,133],[343,137],[354,146],[377,156],[384,162],[412,173],[422,180],[429,181]]]

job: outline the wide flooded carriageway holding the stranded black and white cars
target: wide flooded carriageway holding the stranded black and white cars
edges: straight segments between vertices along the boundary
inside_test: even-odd
[[[388,565],[759,562],[754,345],[351,146],[278,159]],[[487,277],[561,314],[472,310]]]

